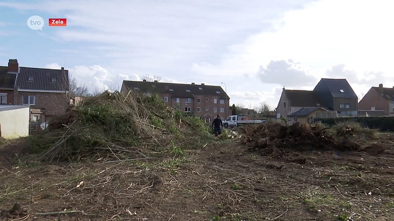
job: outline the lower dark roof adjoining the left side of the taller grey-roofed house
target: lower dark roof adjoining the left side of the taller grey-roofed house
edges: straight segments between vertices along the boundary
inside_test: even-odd
[[[292,107],[318,107],[323,105],[319,97],[312,90],[287,90],[286,97],[290,101]]]

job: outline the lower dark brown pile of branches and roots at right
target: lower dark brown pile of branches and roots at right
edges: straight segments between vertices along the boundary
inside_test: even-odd
[[[266,154],[283,156],[286,151],[307,150],[358,150],[354,142],[340,142],[322,124],[288,126],[280,123],[256,124],[243,127],[244,144]]]

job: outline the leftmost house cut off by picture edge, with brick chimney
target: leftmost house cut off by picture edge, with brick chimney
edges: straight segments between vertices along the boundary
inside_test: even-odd
[[[0,66],[0,105],[13,104],[13,92],[18,73],[18,61],[10,59],[8,66]]]

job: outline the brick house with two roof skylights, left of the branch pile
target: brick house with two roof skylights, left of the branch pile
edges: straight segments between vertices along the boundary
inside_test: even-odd
[[[12,105],[29,105],[32,121],[48,121],[64,114],[69,107],[68,71],[63,67],[59,70],[19,67],[17,59],[10,59],[7,74],[8,80],[3,82],[8,82],[8,91],[14,82]],[[9,97],[7,94],[7,100]]]

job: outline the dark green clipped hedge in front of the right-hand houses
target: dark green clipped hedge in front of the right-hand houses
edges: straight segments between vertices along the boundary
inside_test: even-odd
[[[358,122],[363,127],[377,129],[380,131],[394,131],[394,117],[338,117],[338,118],[320,118],[320,121],[328,125],[334,125],[343,122]]]

